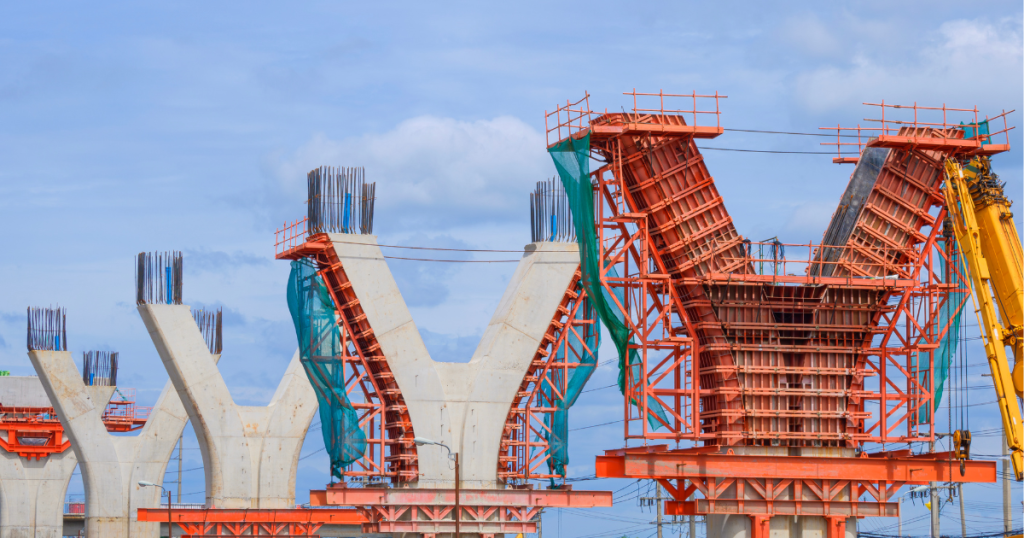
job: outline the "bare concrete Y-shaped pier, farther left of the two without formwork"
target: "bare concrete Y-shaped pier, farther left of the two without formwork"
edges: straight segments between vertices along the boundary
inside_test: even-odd
[[[111,538],[158,536],[158,526],[136,521],[136,509],[160,503],[159,488],[167,462],[187,416],[171,389],[164,386],[145,426],[137,436],[113,436],[102,422],[113,386],[86,386],[68,351],[30,351],[82,469],[85,528],[90,536]],[[62,500],[62,497],[61,497]]]

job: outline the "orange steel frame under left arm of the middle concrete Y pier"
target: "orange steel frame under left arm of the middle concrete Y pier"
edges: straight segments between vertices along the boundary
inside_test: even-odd
[[[327,234],[309,236],[306,219],[278,232],[278,259],[310,258],[338,312],[345,392],[367,432],[368,450],[343,470],[346,478],[364,481],[389,480],[397,485],[419,478],[413,423],[380,343],[352,290],[345,268]]]

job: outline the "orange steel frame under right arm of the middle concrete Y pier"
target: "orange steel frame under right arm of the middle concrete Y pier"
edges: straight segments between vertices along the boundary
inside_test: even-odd
[[[498,479],[506,483],[564,479],[541,469],[550,459],[546,434],[550,433],[557,401],[564,399],[569,377],[581,364],[581,356],[569,345],[569,337],[574,336],[584,351],[597,357],[597,349],[586,348],[587,331],[593,330],[594,320],[577,319],[588,309],[582,276],[578,267],[509,409],[498,458]]]

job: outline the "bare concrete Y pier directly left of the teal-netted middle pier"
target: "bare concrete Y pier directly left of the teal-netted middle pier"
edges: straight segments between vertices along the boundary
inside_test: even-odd
[[[291,508],[295,473],[316,395],[292,357],[267,407],[231,399],[187,305],[138,307],[196,427],[206,470],[206,502],[216,508]]]

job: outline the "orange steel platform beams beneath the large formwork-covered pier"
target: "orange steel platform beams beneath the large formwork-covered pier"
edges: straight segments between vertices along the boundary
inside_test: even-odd
[[[665,445],[607,451],[597,457],[601,478],[657,480],[675,499],[674,515],[772,514],[895,518],[893,495],[929,482],[994,483],[995,462],[969,461],[961,474],[951,453],[909,451],[859,457],[736,454],[707,447]],[[699,493],[703,498],[690,500]]]

